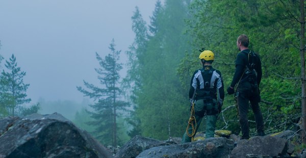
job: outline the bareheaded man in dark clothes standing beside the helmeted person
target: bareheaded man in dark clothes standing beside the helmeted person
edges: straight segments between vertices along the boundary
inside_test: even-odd
[[[248,108],[254,113],[258,136],[265,136],[263,116],[259,107],[259,85],[262,78],[261,60],[257,54],[248,48],[249,39],[246,35],[240,35],[237,39],[237,47],[240,50],[236,59],[236,69],[231,86],[227,88],[228,94],[234,94],[237,84],[237,104],[239,122],[241,127],[241,139],[249,139]]]

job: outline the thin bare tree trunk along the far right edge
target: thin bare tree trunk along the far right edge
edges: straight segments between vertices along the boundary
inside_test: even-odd
[[[300,0],[300,57],[301,57],[301,109],[302,109],[302,142],[306,144],[306,89],[305,89],[305,51],[304,51],[304,32],[305,32],[305,17],[304,17],[304,0]]]

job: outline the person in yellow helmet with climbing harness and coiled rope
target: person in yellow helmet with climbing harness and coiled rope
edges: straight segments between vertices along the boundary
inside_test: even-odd
[[[189,100],[194,106],[194,117],[196,122],[196,133],[201,120],[206,116],[206,138],[215,136],[216,122],[224,99],[224,85],[221,72],[212,67],[215,55],[211,50],[201,50],[199,59],[202,68],[194,71],[189,89]],[[193,105],[194,104],[194,105]],[[193,136],[192,126],[189,126],[183,135],[181,143],[191,142]]]

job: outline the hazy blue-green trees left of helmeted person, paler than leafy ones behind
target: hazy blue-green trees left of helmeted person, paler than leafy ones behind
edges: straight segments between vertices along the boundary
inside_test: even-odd
[[[188,4],[189,1],[171,0],[161,6],[157,1],[150,17],[149,34],[146,25],[133,25],[136,38],[131,48],[135,49],[129,52],[134,53],[136,66],[129,67],[128,75],[137,72],[138,76],[129,80],[138,83],[135,84],[138,88],[133,91],[135,113],[131,121],[134,125],[129,133],[131,136],[141,134],[167,139],[181,137],[185,131],[189,117],[188,95],[180,84],[177,66],[185,50],[189,49],[189,36],[184,34]],[[133,23],[143,21],[135,17],[141,17],[138,10],[132,17]],[[143,34],[139,34],[140,30]]]

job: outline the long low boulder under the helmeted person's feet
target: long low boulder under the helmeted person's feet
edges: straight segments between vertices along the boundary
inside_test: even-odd
[[[234,141],[223,137],[207,138],[184,144],[157,146],[141,152],[137,157],[228,157]]]

